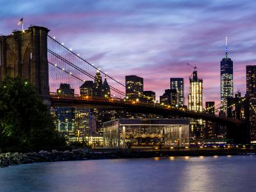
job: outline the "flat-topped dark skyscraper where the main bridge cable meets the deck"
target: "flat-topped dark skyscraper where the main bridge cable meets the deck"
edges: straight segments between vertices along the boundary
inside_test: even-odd
[[[143,78],[125,76],[125,93],[129,99],[140,99],[143,93]]]

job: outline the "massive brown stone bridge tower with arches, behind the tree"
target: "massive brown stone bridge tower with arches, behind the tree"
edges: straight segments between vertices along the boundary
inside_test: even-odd
[[[0,36],[0,79],[17,76],[27,79],[49,105],[48,32],[47,28],[31,26]]]

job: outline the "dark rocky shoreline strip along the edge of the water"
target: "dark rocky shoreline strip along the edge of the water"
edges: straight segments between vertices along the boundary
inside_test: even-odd
[[[0,167],[17,164],[56,162],[56,161],[81,161],[92,159],[128,159],[148,157],[169,157],[169,156],[233,156],[233,155],[256,155],[255,149],[230,149],[230,150],[148,150],[115,148],[115,149],[85,149],[48,152],[41,150],[33,153],[6,153],[0,154]]]

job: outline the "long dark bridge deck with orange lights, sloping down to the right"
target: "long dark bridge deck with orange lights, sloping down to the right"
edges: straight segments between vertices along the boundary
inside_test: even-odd
[[[68,96],[51,93],[52,106],[66,106],[74,108],[108,108],[125,109],[134,113],[151,113],[163,116],[181,116],[186,118],[195,118],[219,122],[229,125],[245,125],[244,121],[234,118],[220,117],[207,113],[198,113],[186,111],[185,109],[176,109],[157,104],[145,104],[142,102],[124,101],[122,99],[105,99],[100,97],[81,97],[79,95]]]

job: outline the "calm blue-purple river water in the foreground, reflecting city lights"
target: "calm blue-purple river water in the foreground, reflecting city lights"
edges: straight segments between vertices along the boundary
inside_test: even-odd
[[[256,156],[22,164],[0,168],[0,191],[256,191]]]

